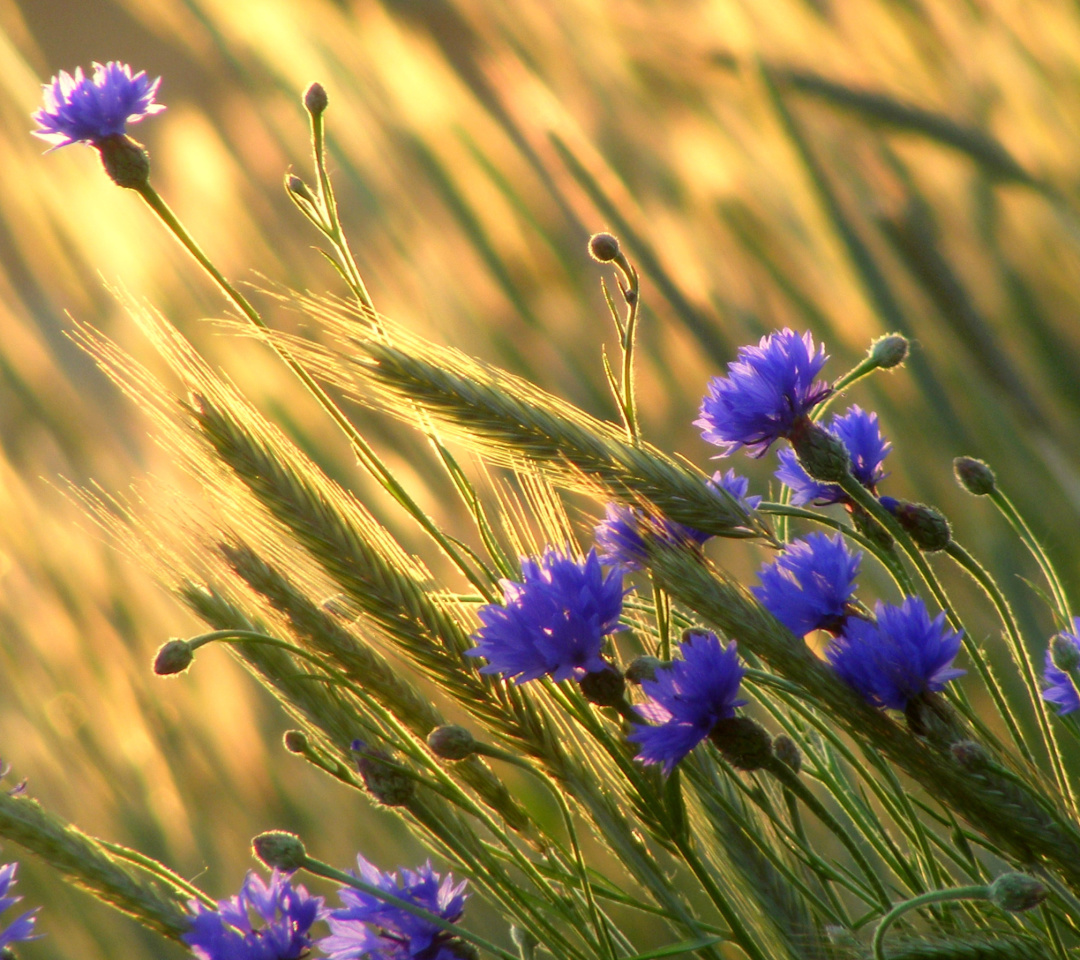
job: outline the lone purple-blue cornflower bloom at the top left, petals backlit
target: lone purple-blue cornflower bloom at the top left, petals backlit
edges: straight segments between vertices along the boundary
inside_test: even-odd
[[[36,137],[57,147],[80,140],[97,145],[107,137],[126,133],[129,123],[138,123],[165,109],[153,102],[161,78],[151,80],[145,70],[132,75],[127,64],[109,60],[94,64],[94,76],[75,76],[60,70],[45,84],[45,106],[32,119]]]

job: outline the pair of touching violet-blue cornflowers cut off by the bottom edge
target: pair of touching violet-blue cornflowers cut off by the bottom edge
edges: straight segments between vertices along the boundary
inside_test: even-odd
[[[417,870],[382,873],[356,857],[353,876],[375,891],[404,901],[432,918],[456,923],[464,910],[465,881],[455,883],[426,863]],[[247,875],[240,893],[210,908],[190,903],[191,925],[184,942],[199,960],[462,960],[463,945],[432,919],[352,887],[338,891],[342,906],[328,909],[291,875],[274,868],[269,882]],[[315,937],[318,923],[329,934]],[[318,950],[318,954],[312,954]]]

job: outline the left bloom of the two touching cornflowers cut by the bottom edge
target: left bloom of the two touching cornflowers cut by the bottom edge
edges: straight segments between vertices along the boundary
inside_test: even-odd
[[[216,910],[191,901],[191,929],[180,938],[200,960],[296,960],[311,950],[312,924],[326,919],[323,903],[276,869],[269,884],[252,871],[239,895],[218,901]]]

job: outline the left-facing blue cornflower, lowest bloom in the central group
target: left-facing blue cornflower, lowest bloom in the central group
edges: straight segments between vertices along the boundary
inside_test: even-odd
[[[659,668],[654,680],[642,681],[650,702],[636,709],[660,726],[640,726],[626,738],[640,746],[639,760],[663,763],[665,774],[746,703],[735,699],[744,671],[734,640],[725,647],[716,634],[701,631],[679,644],[679,653],[683,659]]]

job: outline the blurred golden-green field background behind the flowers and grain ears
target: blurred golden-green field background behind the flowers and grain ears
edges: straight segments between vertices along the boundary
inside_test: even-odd
[[[617,233],[644,275],[646,434],[705,469],[691,421],[740,343],[809,328],[838,376],[874,337],[913,337],[906,369],[853,394],[895,444],[885,490],[945,510],[1032,649],[1045,643],[1034,566],[955,486],[951,460],[995,467],[1075,591],[1075,3],[0,0],[0,756],[50,809],[219,897],[271,827],[340,866],[347,850],[383,868],[422,858],[394,820],[282,749],[284,717],[227,652],[180,680],[151,674],[156,648],[199,625],[65,492],[187,483],[67,336],[89,322],[160,368],[107,288],[122,285],[418,543],[273,355],[204,322],[222,300],[94,151],[42,156],[29,136],[41,83],[107,59],[164,78],[167,111],[132,133],[227,275],[343,293],[282,189],[286,172],[310,177],[300,95],[321,81],[341,215],[377,307],[603,417],[616,416],[600,366],[615,338],[585,242]],[[416,441],[357,417],[453,525]],[[735,465],[765,491],[771,461]],[[747,578],[761,562],[713,549]],[[993,617],[954,586],[993,651]],[[23,858],[22,892],[45,905],[49,936],[24,957],[183,955],[17,848],[2,856]]]

